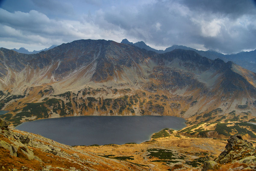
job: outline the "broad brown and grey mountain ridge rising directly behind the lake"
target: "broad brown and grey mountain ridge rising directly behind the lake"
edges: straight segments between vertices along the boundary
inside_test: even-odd
[[[1,117],[14,125],[78,115],[173,115],[200,122],[209,111],[220,113],[215,120],[232,111],[255,112],[256,74],[193,50],[156,53],[89,39],[36,54],[0,48],[0,59],[0,109],[10,111]]]

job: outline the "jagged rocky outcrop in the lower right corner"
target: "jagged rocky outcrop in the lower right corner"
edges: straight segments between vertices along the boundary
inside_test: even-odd
[[[248,169],[256,168],[256,149],[247,140],[243,140],[240,135],[232,135],[227,140],[226,149],[219,155],[215,161],[205,161],[202,171],[207,171],[208,169],[213,169],[212,165],[215,167],[216,164],[226,164],[226,163],[245,163]],[[212,164],[214,162],[214,164]],[[240,170],[242,167],[233,168],[230,171]]]

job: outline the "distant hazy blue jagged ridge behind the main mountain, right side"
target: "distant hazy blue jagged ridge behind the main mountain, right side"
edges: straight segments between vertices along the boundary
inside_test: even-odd
[[[224,55],[224,54],[218,53],[216,51],[196,50],[191,47],[186,47],[186,46],[182,46],[182,45],[173,45],[171,47],[167,47],[165,50],[156,50],[156,49],[151,48],[148,45],[146,45],[143,41],[139,41],[137,43],[132,43],[132,42],[128,41],[127,39],[123,39],[121,41],[121,43],[132,44],[134,46],[137,46],[137,47],[140,47],[140,48],[146,49],[146,50],[151,50],[156,53],[166,53],[166,52],[170,52],[174,49],[193,50],[196,53],[200,54],[201,56],[205,56],[209,59],[215,60],[217,58],[220,58],[221,60],[223,60],[225,62],[232,61],[232,62],[238,64],[239,66],[242,66],[245,69],[248,69],[252,72],[256,72],[256,50],[249,51],[249,52],[240,52],[240,53],[236,53],[236,54]]]

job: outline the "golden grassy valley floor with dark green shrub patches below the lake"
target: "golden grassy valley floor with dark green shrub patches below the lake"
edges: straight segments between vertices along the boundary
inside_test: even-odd
[[[196,167],[201,166],[204,160],[213,160],[217,157],[225,149],[225,145],[224,139],[170,135],[141,144],[75,146],[75,148],[136,163],[148,170],[164,171],[172,168],[199,169]]]

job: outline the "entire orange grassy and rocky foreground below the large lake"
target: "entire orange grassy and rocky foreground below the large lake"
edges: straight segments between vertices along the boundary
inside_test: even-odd
[[[256,170],[254,141],[239,135],[226,144],[165,129],[141,144],[71,147],[9,128],[3,119],[0,127],[0,170]]]

